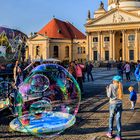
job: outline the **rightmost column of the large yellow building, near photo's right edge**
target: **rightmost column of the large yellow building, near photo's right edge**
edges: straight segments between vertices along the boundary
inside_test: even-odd
[[[134,59],[135,59],[135,62],[137,62],[137,60],[139,59],[139,47],[138,47],[138,30],[136,29],[135,30],[135,53],[134,53]]]

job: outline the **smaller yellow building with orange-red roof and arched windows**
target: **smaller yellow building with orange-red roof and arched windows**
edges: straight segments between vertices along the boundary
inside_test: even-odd
[[[61,61],[86,60],[86,36],[71,23],[53,18],[29,37],[26,58],[57,58]]]

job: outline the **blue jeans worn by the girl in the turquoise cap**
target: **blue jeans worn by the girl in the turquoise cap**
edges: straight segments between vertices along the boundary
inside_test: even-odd
[[[112,131],[113,131],[114,117],[116,115],[117,136],[121,137],[122,104],[121,103],[110,104],[109,113],[110,113],[110,117],[109,117],[109,133],[112,133]]]

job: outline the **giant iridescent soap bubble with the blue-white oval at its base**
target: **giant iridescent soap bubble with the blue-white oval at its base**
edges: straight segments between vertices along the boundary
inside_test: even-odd
[[[19,94],[23,98],[23,115],[10,123],[15,131],[50,137],[63,132],[76,121],[80,88],[62,66],[37,66],[19,86]]]

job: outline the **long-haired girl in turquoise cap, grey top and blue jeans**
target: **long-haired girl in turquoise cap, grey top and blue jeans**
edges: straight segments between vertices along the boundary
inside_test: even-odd
[[[116,115],[116,125],[117,125],[117,135],[115,140],[121,140],[122,125],[121,125],[121,115],[122,115],[122,95],[123,86],[121,83],[122,78],[120,76],[114,76],[113,82],[106,87],[107,96],[110,99],[109,103],[109,129],[106,134],[107,137],[113,137],[113,122]]]

